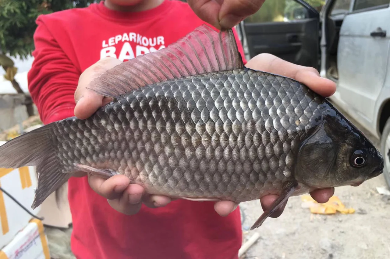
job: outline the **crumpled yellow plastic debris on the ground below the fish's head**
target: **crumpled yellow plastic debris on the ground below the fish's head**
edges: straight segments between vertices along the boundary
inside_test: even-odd
[[[308,204],[310,212],[313,214],[335,214],[340,212],[341,214],[353,214],[355,210],[353,208],[346,208],[344,204],[339,200],[337,196],[332,196],[326,203],[317,203],[310,195],[303,195],[302,201]]]

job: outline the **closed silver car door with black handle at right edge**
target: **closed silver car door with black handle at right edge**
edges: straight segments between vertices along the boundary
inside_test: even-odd
[[[337,98],[367,128],[385,82],[390,44],[389,0],[355,0],[340,28]]]

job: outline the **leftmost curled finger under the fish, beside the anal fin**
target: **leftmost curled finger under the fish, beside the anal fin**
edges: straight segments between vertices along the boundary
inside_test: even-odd
[[[88,174],[88,183],[97,194],[113,200],[121,198],[122,193],[129,186],[130,180],[125,175],[114,175],[109,179],[103,179],[98,175]]]

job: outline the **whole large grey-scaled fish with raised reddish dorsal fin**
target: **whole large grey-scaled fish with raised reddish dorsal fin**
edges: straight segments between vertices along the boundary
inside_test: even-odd
[[[247,68],[229,30],[204,24],[123,62],[88,89],[112,101],[0,147],[0,166],[36,166],[36,208],[76,172],[126,175],[149,194],[236,203],[358,186],[383,157],[332,103],[289,77]]]

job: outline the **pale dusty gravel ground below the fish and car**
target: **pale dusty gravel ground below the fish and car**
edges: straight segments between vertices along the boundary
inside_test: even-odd
[[[359,126],[358,123],[356,125]],[[377,139],[365,133],[378,145]],[[245,238],[249,238],[255,231],[261,236],[242,258],[389,258],[390,196],[383,196],[376,191],[376,187],[385,185],[381,175],[359,187],[337,188],[335,196],[339,197],[347,208],[354,208],[354,214],[314,215],[308,208],[302,207],[301,196],[292,197],[280,217],[268,218],[260,228],[253,231],[247,230],[262,213],[260,203],[242,203]],[[75,258],[69,249],[71,229],[60,231],[46,228],[46,233],[52,259]]]

